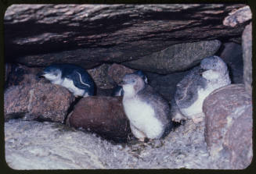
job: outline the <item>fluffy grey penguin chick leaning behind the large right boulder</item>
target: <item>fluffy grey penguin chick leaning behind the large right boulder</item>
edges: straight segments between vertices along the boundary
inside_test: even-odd
[[[194,123],[199,123],[204,119],[204,99],[230,83],[228,68],[220,57],[203,59],[200,66],[191,69],[177,84],[175,98],[171,100],[172,120],[193,119]]]

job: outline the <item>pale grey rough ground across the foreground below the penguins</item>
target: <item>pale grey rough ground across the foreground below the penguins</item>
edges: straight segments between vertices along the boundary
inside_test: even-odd
[[[204,124],[190,121],[161,144],[110,144],[59,123],[12,119],[5,123],[5,159],[13,169],[230,169],[211,158]]]

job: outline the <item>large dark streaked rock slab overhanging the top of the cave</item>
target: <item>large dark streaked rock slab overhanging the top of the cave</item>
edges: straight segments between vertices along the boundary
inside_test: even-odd
[[[222,21],[243,4],[11,5],[5,58],[27,66],[70,62],[91,69],[162,51],[172,44],[240,37],[245,23]]]

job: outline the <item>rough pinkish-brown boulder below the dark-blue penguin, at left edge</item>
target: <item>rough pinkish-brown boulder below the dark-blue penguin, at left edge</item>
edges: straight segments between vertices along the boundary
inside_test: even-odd
[[[5,90],[5,121],[13,118],[24,120],[50,120],[63,123],[74,96],[64,87],[43,83],[27,83]]]

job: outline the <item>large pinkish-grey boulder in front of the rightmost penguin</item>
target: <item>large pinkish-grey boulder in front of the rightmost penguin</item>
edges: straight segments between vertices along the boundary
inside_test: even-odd
[[[243,84],[212,92],[205,100],[205,140],[212,156],[228,158],[231,169],[252,160],[252,99]]]

